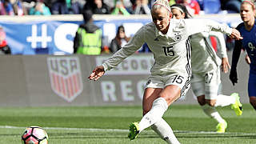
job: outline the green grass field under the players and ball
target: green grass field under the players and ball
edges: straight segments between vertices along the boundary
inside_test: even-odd
[[[216,134],[217,122],[206,117],[198,105],[174,105],[164,118],[182,144],[254,144],[256,111],[243,106],[238,117],[230,106],[218,109],[228,122],[225,134]],[[142,106],[101,107],[2,107],[0,143],[21,143],[27,126],[42,126],[50,144],[165,144],[153,130],[127,138],[130,122],[142,118]]]

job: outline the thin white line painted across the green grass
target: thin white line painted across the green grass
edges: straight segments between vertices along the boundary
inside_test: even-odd
[[[22,126],[0,126],[0,129],[26,129]],[[94,128],[69,128],[69,127],[43,127],[45,130],[87,130],[87,131],[114,131],[114,132],[129,132],[129,130],[122,129],[94,129]],[[153,131],[153,130],[144,130]],[[184,134],[218,134],[214,131],[189,131],[189,130],[174,130],[174,133]],[[240,133],[240,132],[226,132],[224,134],[242,134],[242,135],[256,135],[256,133]]]

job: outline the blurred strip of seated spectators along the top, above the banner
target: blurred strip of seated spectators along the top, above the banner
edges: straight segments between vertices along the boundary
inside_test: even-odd
[[[222,10],[239,13],[242,0],[169,0],[182,3],[191,14],[216,14]],[[154,0],[0,0],[1,15],[150,14]]]

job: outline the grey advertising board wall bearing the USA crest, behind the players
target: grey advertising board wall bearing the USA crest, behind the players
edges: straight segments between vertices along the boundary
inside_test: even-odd
[[[228,53],[229,57],[231,53]],[[151,54],[134,54],[97,82],[88,80],[94,66],[110,55],[2,55],[0,106],[128,106],[141,105],[145,79],[153,64]],[[248,103],[249,66],[241,58],[238,84],[222,74],[223,94],[234,91]],[[194,104],[191,90],[174,104]]]

